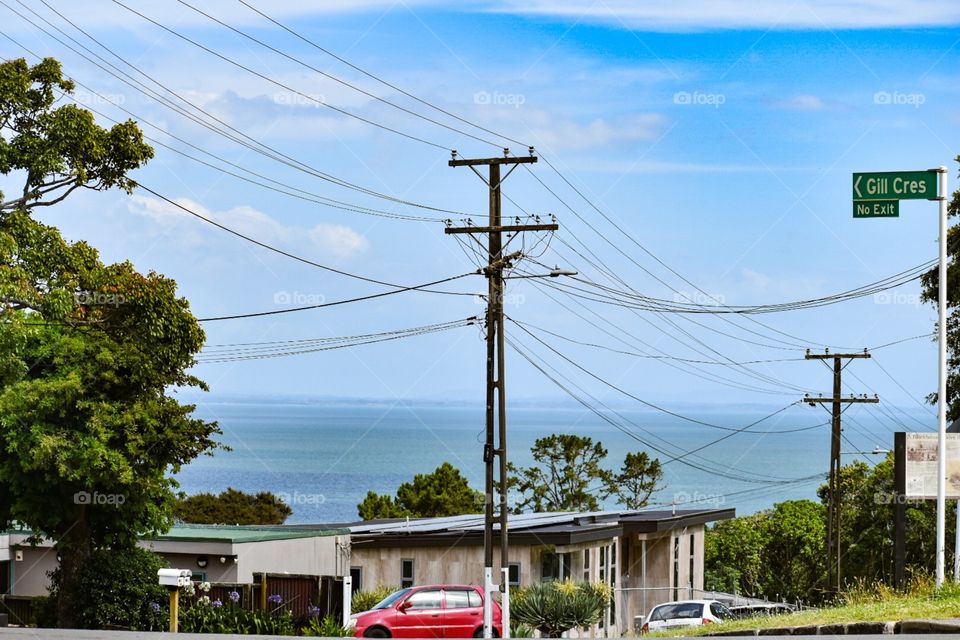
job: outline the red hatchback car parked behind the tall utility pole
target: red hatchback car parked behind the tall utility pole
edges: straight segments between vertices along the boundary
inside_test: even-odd
[[[493,601],[493,633],[501,637],[500,603]],[[483,589],[433,584],[394,591],[370,611],[350,616],[358,638],[482,638]]]

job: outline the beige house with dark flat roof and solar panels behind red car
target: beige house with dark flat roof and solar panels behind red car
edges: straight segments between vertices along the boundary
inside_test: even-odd
[[[733,509],[514,515],[510,585],[565,578],[606,582],[615,597],[601,627],[621,634],[661,602],[701,597],[705,525],[734,515]],[[482,515],[466,515],[340,525],[350,530],[354,589],[483,584],[483,524]]]

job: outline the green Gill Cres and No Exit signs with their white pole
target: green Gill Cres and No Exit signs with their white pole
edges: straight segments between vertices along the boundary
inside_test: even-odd
[[[947,168],[853,174],[853,217],[892,218],[900,200],[937,200],[940,204],[939,354],[937,362],[937,588],[943,586],[946,559],[947,483]],[[896,205],[896,206],[893,206]],[[960,525],[960,507],[957,511]],[[955,552],[960,552],[960,549]],[[955,573],[957,570],[955,569]],[[958,576],[954,576],[957,578]]]

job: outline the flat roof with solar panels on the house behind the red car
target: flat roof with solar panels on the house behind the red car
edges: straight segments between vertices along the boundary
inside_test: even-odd
[[[509,518],[515,544],[577,544],[604,540],[623,533],[657,533],[696,526],[735,515],[733,509],[678,509],[661,511],[590,511],[523,513]],[[290,528],[321,525],[289,525]],[[351,538],[373,546],[474,545],[483,539],[482,514],[445,518],[408,518],[338,525]],[[494,524],[494,537],[499,523]]]

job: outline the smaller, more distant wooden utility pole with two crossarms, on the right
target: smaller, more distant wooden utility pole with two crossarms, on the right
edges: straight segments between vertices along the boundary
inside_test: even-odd
[[[822,396],[813,398],[805,396],[803,401],[811,407],[817,404],[831,405],[831,438],[830,438],[830,502],[827,514],[827,588],[836,587],[837,593],[840,592],[841,574],[840,574],[840,415],[846,410],[842,405],[850,405],[862,402],[877,403],[880,398],[874,396],[868,398],[863,396],[848,396],[844,398],[842,393],[843,385],[841,376],[843,370],[847,368],[856,358],[869,358],[870,354],[866,349],[863,353],[830,353],[827,349],[825,353],[810,353],[807,349],[807,360],[833,360],[833,396],[824,398]],[[844,364],[844,360],[848,362]],[[829,366],[829,365],[828,365]]]

